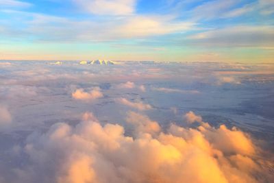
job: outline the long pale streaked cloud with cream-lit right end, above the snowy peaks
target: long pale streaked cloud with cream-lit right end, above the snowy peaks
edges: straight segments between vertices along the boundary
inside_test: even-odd
[[[75,21],[65,17],[32,12],[3,10],[3,13],[7,16],[20,16],[22,25],[25,25],[24,27],[13,27],[12,23],[5,23],[3,27],[3,35],[5,37],[22,39],[28,35],[35,35],[36,40],[42,42],[128,40],[182,33],[194,29],[196,25],[193,22],[177,21],[174,17],[161,15],[142,16],[136,14],[133,16],[122,16],[119,19],[112,19],[113,17],[106,16],[103,21],[99,21],[99,19],[94,21]],[[29,19],[32,19],[32,21],[29,21]]]

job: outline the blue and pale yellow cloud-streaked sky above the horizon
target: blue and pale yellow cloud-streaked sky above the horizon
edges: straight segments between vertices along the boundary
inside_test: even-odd
[[[273,63],[273,0],[0,0],[0,60]]]

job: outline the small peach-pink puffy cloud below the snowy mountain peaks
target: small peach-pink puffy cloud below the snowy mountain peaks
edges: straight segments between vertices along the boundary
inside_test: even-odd
[[[72,93],[72,97],[78,100],[90,101],[103,97],[103,93],[101,93],[99,87],[93,88],[90,92],[85,92],[83,88],[79,88]]]

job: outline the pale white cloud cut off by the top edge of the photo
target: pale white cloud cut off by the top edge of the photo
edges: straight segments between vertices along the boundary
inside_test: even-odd
[[[99,15],[129,15],[135,12],[136,0],[73,0],[82,10]]]

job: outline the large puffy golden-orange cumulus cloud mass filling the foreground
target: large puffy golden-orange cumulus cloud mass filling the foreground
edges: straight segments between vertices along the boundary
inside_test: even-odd
[[[92,119],[75,127],[52,125],[27,138],[29,162],[12,182],[271,182],[273,175],[256,160],[251,138],[225,125],[162,130],[156,121],[127,114],[138,136],[124,127]],[[210,167],[210,169],[209,169]]]

